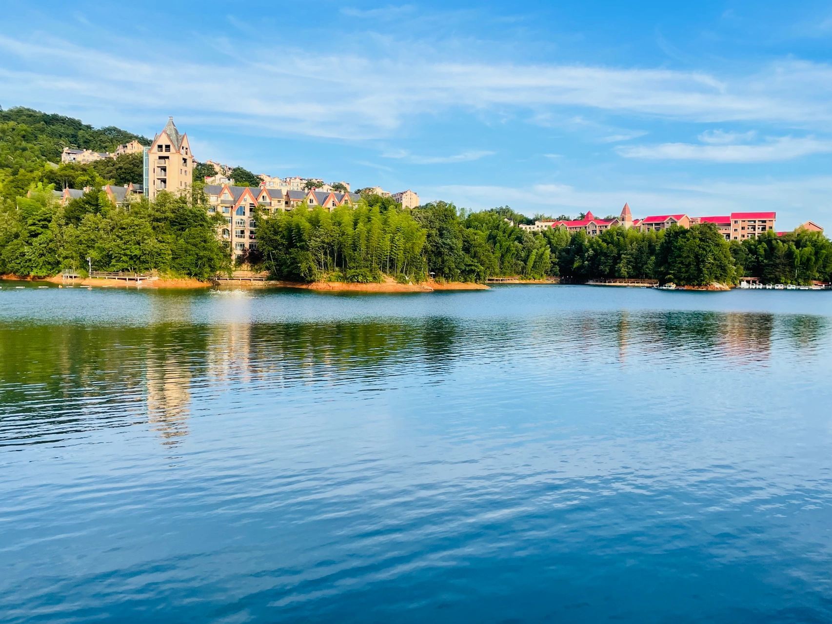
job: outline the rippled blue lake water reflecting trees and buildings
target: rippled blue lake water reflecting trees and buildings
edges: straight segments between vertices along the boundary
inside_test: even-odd
[[[832,292],[0,290],[0,622],[830,622]]]

